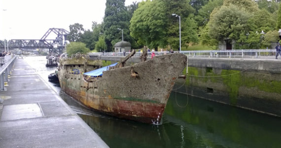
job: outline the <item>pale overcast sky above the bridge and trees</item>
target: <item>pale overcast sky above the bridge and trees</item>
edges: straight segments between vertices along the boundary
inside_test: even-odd
[[[125,5],[133,1],[126,0]],[[0,39],[40,39],[49,28],[91,29],[105,15],[106,0],[0,0]],[[50,39],[50,38],[49,38]],[[52,38],[54,39],[54,38]]]

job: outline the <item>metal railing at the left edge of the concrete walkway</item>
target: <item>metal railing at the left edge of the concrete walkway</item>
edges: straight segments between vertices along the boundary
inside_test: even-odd
[[[5,90],[5,83],[8,82],[8,75],[12,71],[16,57],[15,55],[6,55],[4,57],[5,63],[0,67],[0,91]],[[3,60],[2,58],[0,60]]]

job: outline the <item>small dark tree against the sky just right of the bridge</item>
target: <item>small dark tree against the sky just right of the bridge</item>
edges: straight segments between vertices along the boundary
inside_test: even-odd
[[[75,23],[70,25],[70,34],[68,36],[69,41],[79,41],[82,36],[84,29],[83,25],[79,23]]]

